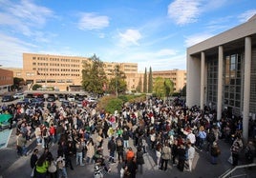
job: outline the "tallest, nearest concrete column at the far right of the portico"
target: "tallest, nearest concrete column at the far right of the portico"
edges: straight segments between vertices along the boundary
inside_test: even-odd
[[[244,82],[244,110],[243,110],[243,138],[248,140],[249,98],[250,98],[250,70],[251,70],[251,38],[245,37],[245,82]]]

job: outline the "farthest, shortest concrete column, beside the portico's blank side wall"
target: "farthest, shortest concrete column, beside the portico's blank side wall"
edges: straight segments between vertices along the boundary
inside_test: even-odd
[[[201,52],[201,89],[200,89],[200,109],[203,109],[204,104],[204,70],[205,70],[205,54]]]

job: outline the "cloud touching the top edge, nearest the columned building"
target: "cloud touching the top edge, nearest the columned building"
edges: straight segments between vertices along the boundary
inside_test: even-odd
[[[197,22],[202,0],[175,0],[168,6],[168,17],[178,25]]]

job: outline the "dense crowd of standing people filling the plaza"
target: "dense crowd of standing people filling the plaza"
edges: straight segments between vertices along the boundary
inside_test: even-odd
[[[32,176],[68,177],[69,168],[94,164],[94,176],[110,172],[110,164],[120,164],[120,177],[136,177],[143,173],[144,154],[154,152],[156,167],[166,171],[168,166],[181,171],[193,170],[196,151],[209,151],[211,164],[218,164],[221,149],[219,139],[230,144],[233,166],[245,151],[248,163],[255,157],[255,121],[250,120],[250,140],[242,140],[242,118],[229,117],[225,111],[217,120],[216,110],[197,106],[188,108],[180,98],[163,101],[148,98],[124,104],[122,110],[107,113],[96,105],[82,109],[75,103],[48,109],[26,105],[2,107],[17,121],[17,154],[27,155],[27,143],[34,135],[37,147],[31,156]],[[103,142],[108,142],[103,147]],[[57,145],[57,155],[50,148]],[[38,148],[44,152],[38,155]],[[109,155],[104,155],[108,150]],[[107,158],[106,158],[107,156]]]

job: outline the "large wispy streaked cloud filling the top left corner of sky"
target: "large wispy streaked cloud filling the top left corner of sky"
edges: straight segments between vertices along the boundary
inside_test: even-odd
[[[52,10],[37,6],[29,0],[22,0],[19,3],[0,1],[0,7],[0,27],[33,37],[35,40],[46,38],[45,32],[38,29],[44,28],[47,20],[54,17]],[[39,33],[40,38],[38,38]]]

